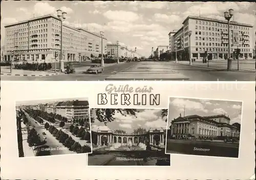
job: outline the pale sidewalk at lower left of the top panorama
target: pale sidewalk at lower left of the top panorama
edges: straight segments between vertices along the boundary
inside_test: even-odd
[[[12,69],[10,73],[10,67],[3,66],[1,67],[1,75],[19,75],[19,76],[49,76],[49,75],[58,75],[60,73],[55,73],[51,71],[32,71],[32,70],[23,70],[23,69]]]

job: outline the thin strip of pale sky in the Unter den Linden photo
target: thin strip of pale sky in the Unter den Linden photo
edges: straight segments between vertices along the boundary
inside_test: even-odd
[[[60,102],[60,101],[68,101],[68,100],[88,100],[88,97],[81,97],[81,98],[61,98],[61,99],[37,99],[37,100],[27,100],[27,101],[17,101],[16,106],[28,106],[28,105],[38,105],[38,104],[46,104],[46,103],[53,103],[53,102]]]

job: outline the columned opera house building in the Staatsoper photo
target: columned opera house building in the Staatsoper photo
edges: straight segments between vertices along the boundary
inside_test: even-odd
[[[239,138],[240,129],[230,125],[230,118],[226,115],[199,116],[190,115],[174,119],[171,126],[171,136],[206,139]]]

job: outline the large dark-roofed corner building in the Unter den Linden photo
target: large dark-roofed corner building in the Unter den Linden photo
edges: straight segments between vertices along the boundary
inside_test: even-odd
[[[89,121],[89,102],[87,100],[61,101],[56,105],[56,114],[67,117],[69,121]]]

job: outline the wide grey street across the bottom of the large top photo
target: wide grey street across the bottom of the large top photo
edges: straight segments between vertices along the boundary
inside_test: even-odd
[[[81,71],[75,74],[59,74],[52,76],[7,76],[1,75],[2,80],[11,81],[133,81],[133,80],[162,80],[162,81],[255,81],[255,61],[240,61],[240,71],[237,63],[232,63],[233,70],[227,71],[224,61],[207,64],[195,62],[141,61],[120,63],[104,67],[103,73],[88,74]],[[76,67],[79,69],[81,67]]]

